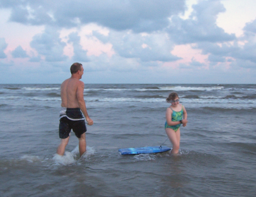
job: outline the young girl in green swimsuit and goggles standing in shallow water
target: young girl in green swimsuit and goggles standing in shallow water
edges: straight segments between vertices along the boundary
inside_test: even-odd
[[[188,123],[187,111],[183,104],[179,103],[177,93],[171,93],[166,101],[171,103],[171,106],[166,110],[166,124],[164,128],[172,142],[171,154],[177,154],[180,148],[180,125],[183,124],[183,127],[185,127]]]

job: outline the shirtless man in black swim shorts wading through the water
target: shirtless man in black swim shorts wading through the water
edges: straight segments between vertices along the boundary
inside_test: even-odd
[[[79,138],[79,153],[81,157],[86,151],[86,125],[82,114],[84,114],[88,125],[93,125],[93,120],[89,118],[87,113],[84,101],[84,82],[80,81],[82,74],[84,74],[84,68],[82,68],[82,64],[74,63],[70,71],[71,78],[66,79],[61,84],[60,90],[61,111],[59,136],[61,141],[57,148],[57,154],[63,156],[72,129]]]

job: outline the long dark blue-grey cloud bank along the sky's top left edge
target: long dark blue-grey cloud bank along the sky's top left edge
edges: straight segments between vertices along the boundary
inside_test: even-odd
[[[10,1],[10,20],[23,24],[76,27],[97,23],[114,30],[151,32],[168,25],[168,17],[183,13],[185,0]]]

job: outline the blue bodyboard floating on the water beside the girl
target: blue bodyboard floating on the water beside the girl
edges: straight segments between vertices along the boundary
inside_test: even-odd
[[[121,154],[145,154],[145,153],[162,153],[171,150],[167,146],[146,146],[138,148],[121,148],[118,151]]]

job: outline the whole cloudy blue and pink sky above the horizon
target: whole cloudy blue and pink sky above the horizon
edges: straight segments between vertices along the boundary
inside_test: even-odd
[[[255,83],[255,0],[1,0],[0,83]]]

